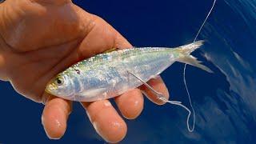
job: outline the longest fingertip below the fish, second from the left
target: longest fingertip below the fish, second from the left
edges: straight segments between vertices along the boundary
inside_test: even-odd
[[[94,129],[106,142],[120,142],[126,136],[126,122],[108,100],[82,102]]]

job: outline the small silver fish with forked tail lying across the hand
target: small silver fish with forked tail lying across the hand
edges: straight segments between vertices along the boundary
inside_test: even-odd
[[[98,54],[70,66],[51,79],[46,92],[71,101],[93,102],[114,98],[141,86],[174,62],[184,62],[212,72],[190,55],[202,43],[198,41],[173,49],[145,47]]]

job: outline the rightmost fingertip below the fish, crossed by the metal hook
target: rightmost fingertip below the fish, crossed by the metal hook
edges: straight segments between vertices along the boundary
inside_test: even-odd
[[[150,79],[150,81],[147,83],[150,86],[152,86],[154,90],[163,94],[163,96],[166,97],[166,99],[169,99],[168,89],[166,88],[166,85],[162,81],[162,78],[160,76],[158,76],[157,78]],[[166,102],[162,102],[162,100],[158,99],[158,96],[156,94],[154,94],[154,92],[152,90],[150,90],[149,88],[147,88],[145,85],[140,86],[140,89],[142,90],[143,94],[145,94],[146,97],[150,99],[150,101],[152,101],[158,105],[163,105],[166,103]]]

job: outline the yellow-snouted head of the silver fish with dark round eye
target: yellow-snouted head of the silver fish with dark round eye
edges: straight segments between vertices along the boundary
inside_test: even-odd
[[[46,92],[60,98],[70,99],[74,95],[74,82],[69,74],[58,74],[46,85]]]

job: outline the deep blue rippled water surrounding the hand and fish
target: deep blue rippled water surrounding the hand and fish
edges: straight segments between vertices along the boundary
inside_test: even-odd
[[[110,22],[134,46],[179,46],[193,42],[212,1],[79,1],[79,6]],[[156,106],[146,100],[142,115],[126,121],[122,143],[254,143],[256,140],[256,1],[217,0],[194,52],[214,74],[188,66],[186,78],[196,112],[193,133],[186,129],[186,111]],[[181,63],[162,74],[170,98],[188,99]],[[103,143],[82,106],[74,105],[68,129],[59,141],[46,138],[41,125],[42,105],[16,94],[0,82],[0,143]]]

